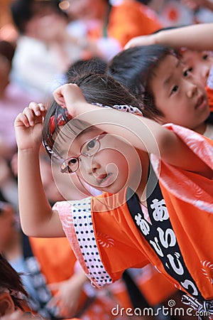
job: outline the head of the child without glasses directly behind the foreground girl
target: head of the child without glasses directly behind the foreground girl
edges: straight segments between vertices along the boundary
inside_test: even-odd
[[[173,122],[213,139],[204,85],[190,73],[173,48],[163,45],[129,48],[110,61],[108,73],[138,97],[146,117],[160,124]]]

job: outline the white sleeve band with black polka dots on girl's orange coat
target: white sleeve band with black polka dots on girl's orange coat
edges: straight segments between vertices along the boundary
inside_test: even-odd
[[[98,284],[99,287],[110,284],[112,280],[102,264],[94,236],[91,198],[83,199],[82,201],[72,201],[72,219],[77,241],[89,271],[89,278]]]

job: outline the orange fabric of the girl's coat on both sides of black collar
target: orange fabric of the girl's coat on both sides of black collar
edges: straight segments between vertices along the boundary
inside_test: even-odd
[[[175,125],[167,127],[178,134],[197,158],[202,159],[213,170],[212,140],[190,129]],[[152,164],[157,171],[160,161],[153,157]],[[213,180],[161,162],[160,188],[185,265],[204,299],[213,299]],[[91,206],[92,213],[89,211],[89,215],[92,216],[94,228],[92,233],[95,235],[102,268],[114,282],[121,277],[124,270],[130,267],[143,267],[149,261],[176,287],[186,291],[184,283],[180,286],[176,279],[165,272],[155,250],[136,228],[125,201],[126,191],[123,191],[115,195],[104,193],[102,196],[91,198],[91,205],[88,204]],[[86,209],[81,209],[81,206],[89,203],[85,200],[84,202],[60,202],[55,205],[55,209],[60,214],[62,227],[75,250],[77,259],[84,271],[92,274],[91,269],[87,268],[83,253],[87,252],[87,249],[84,251],[84,248],[80,247],[77,239],[79,236],[76,235],[72,223],[72,210],[76,211],[72,208],[72,203],[78,206],[78,211],[83,212]],[[102,282],[98,282],[96,277],[91,276],[91,278],[97,287],[102,287]],[[106,278],[107,283],[111,280]]]

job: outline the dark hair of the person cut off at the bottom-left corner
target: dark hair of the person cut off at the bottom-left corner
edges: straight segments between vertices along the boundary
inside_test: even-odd
[[[16,307],[20,308],[23,310],[23,302],[26,304],[24,301],[24,296],[28,297],[28,294],[26,290],[23,288],[23,284],[21,282],[21,277],[20,275],[16,272],[16,270],[11,267],[9,262],[5,259],[3,255],[0,253],[0,287],[2,289],[8,289],[11,298],[13,299],[13,303],[15,304]],[[17,297],[16,294],[23,294],[23,299],[20,297]]]

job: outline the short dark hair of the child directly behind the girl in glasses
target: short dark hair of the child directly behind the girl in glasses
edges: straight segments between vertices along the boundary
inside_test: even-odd
[[[168,46],[136,46],[115,55],[107,66],[107,73],[127,87],[144,105],[144,116],[155,120],[163,113],[155,105],[150,80],[155,68],[167,55],[179,58],[178,52]]]

